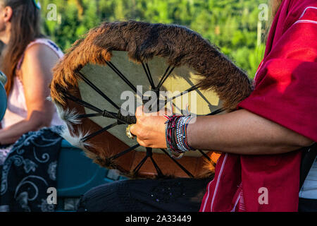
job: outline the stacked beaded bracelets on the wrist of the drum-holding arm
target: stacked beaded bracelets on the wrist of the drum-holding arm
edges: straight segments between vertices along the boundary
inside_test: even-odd
[[[175,159],[180,159],[184,153],[194,150],[188,145],[187,126],[192,120],[191,117],[165,116],[166,121],[166,145],[168,153]]]

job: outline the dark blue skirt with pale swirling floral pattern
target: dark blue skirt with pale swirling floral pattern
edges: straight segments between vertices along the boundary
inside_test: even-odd
[[[61,126],[24,134],[14,145],[0,147],[0,212],[51,212],[47,198],[56,188]]]

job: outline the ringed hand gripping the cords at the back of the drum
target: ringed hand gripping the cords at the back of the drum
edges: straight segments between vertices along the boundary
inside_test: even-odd
[[[144,113],[143,107],[138,107],[135,116],[137,124],[130,129],[131,133],[137,136],[137,142],[147,148],[167,148],[166,147],[166,117],[168,111]]]

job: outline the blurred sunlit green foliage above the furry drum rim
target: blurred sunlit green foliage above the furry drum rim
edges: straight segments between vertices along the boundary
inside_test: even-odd
[[[268,21],[261,22],[259,5],[268,0],[39,0],[44,33],[64,51],[103,21],[142,20],[176,23],[199,32],[220,47],[251,78],[265,50]],[[56,20],[52,5],[56,6]],[[54,7],[54,5],[53,5]]]

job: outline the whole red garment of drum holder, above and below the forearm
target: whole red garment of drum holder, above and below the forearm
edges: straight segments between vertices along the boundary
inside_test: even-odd
[[[254,92],[240,107],[317,141],[316,0],[282,1]],[[221,155],[201,212],[297,211],[301,157]]]

